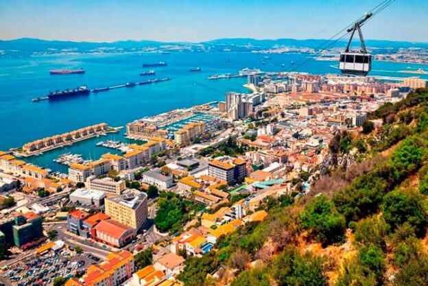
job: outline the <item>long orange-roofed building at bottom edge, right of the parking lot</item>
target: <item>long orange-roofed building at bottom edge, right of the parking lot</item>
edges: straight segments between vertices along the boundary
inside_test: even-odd
[[[129,251],[111,252],[105,262],[89,266],[82,278],[71,278],[65,286],[119,286],[132,277],[134,262]]]

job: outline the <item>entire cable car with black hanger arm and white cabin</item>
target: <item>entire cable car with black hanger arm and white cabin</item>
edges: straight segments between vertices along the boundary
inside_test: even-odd
[[[367,13],[363,19],[355,22],[353,27],[346,30],[350,33],[348,45],[344,52],[340,53],[340,64],[339,68],[342,73],[350,75],[367,75],[372,69],[372,55],[368,53],[366,49],[366,43],[364,43],[363,33],[361,32],[361,26],[373,16],[372,13]],[[359,41],[361,43],[360,51],[350,51],[350,43],[353,40],[355,32],[358,32]]]

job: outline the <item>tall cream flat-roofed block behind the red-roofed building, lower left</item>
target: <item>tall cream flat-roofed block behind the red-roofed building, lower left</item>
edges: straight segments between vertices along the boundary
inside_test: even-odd
[[[106,215],[136,231],[145,224],[148,216],[147,195],[132,191],[112,198],[106,198]]]

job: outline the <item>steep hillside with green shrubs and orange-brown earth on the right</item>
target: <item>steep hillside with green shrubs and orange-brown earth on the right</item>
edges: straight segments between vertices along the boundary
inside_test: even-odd
[[[418,89],[370,115],[383,126],[337,134],[309,195],[270,198],[264,222],[220,237],[178,278],[191,286],[428,285],[427,98]]]

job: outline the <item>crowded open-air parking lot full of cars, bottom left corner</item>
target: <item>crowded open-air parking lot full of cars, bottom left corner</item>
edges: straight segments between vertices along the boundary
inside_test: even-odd
[[[67,250],[29,257],[3,271],[3,283],[16,286],[52,285],[56,277],[66,279],[84,274],[89,265],[100,262],[90,253],[75,254]]]

